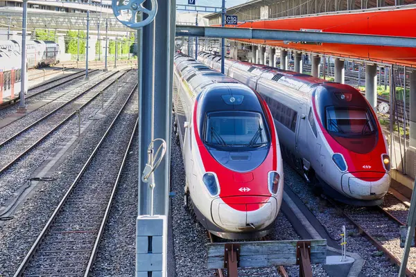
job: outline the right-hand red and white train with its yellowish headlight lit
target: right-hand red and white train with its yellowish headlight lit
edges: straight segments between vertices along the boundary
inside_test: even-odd
[[[198,60],[220,70],[220,56]],[[390,186],[390,157],[374,110],[346,84],[259,64],[225,60],[225,74],[266,100],[281,151],[307,181],[358,206],[381,204]]]

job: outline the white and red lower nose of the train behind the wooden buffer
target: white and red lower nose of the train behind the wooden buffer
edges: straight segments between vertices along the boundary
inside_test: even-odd
[[[277,215],[275,197],[239,196],[214,199],[211,215],[227,231],[255,231],[268,226]]]

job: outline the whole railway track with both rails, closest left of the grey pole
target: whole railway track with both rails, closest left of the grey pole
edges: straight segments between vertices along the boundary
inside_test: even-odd
[[[15,276],[87,276],[137,127],[126,111],[137,84],[28,251]],[[130,124],[132,123],[132,124]],[[132,132],[128,143],[128,125]],[[112,162],[106,172],[103,163]]]

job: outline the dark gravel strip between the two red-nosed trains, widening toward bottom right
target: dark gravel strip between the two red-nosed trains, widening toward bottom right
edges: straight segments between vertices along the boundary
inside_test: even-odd
[[[284,163],[284,179],[285,185],[302,199],[302,202],[327,229],[331,238],[340,240],[339,234],[342,233],[342,227],[345,225],[348,235],[347,251],[358,253],[365,260],[361,271],[363,276],[397,276],[398,268],[392,265],[383,253],[377,251],[365,236],[360,235],[358,230],[327,200],[316,196],[313,186],[306,184],[304,179],[287,163]]]

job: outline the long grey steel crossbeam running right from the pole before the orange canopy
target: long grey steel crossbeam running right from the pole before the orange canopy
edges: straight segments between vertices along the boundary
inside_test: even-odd
[[[284,40],[288,42],[324,42],[416,48],[416,37],[392,37],[345,33],[315,33],[297,30],[222,28],[177,25],[176,36],[218,37],[228,39],[270,39]]]

